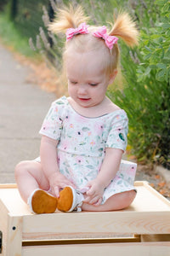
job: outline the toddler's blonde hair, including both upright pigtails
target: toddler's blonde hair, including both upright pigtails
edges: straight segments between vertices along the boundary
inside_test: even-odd
[[[58,10],[57,18],[49,25],[49,30],[55,34],[66,32],[68,28],[76,28],[82,22],[88,20],[88,16],[84,15],[81,6],[74,9],[71,5]],[[110,23],[111,24],[111,23]],[[69,42],[65,43],[64,61],[67,54],[76,50],[77,52],[100,51],[105,71],[108,74],[113,73],[119,62],[118,44],[114,44],[112,49],[105,45],[102,38],[95,38],[92,33],[98,29],[98,26],[89,26],[88,34],[77,34]],[[114,24],[111,24],[110,36],[122,38],[122,40],[130,47],[138,44],[139,32],[131,17],[122,12],[117,15]],[[71,50],[71,51],[70,51]]]

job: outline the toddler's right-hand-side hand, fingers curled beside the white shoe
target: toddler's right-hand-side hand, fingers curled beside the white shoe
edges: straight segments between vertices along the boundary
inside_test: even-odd
[[[88,182],[87,187],[89,188],[86,192],[87,197],[84,202],[99,206],[102,202],[105,187],[98,183],[96,179]]]

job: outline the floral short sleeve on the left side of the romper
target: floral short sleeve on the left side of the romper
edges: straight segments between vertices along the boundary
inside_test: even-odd
[[[62,107],[63,102],[59,100],[52,103],[48,114],[42,122],[40,134],[50,137],[54,140],[59,140],[62,130]]]

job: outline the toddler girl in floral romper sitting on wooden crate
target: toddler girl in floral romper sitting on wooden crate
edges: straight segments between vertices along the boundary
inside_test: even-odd
[[[122,160],[127,114],[105,96],[116,78],[117,40],[138,44],[126,13],[111,31],[88,26],[82,8],[60,9],[49,26],[66,32],[63,60],[69,96],[52,103],[42,123],[40,158],[15,168],[20,195],[32,212],[112,211],[128,207],[136,164]]]

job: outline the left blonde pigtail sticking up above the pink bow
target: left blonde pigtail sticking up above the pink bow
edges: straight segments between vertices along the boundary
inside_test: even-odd
[[[68,28],[76,28],[87,20],[88,16],[84,15],[81,6],[77,6],[77,8],[74,9],[70,5],[69,7],[58,10],[57,18],[48,26],[48,29],[54,33],[65,32]]]

